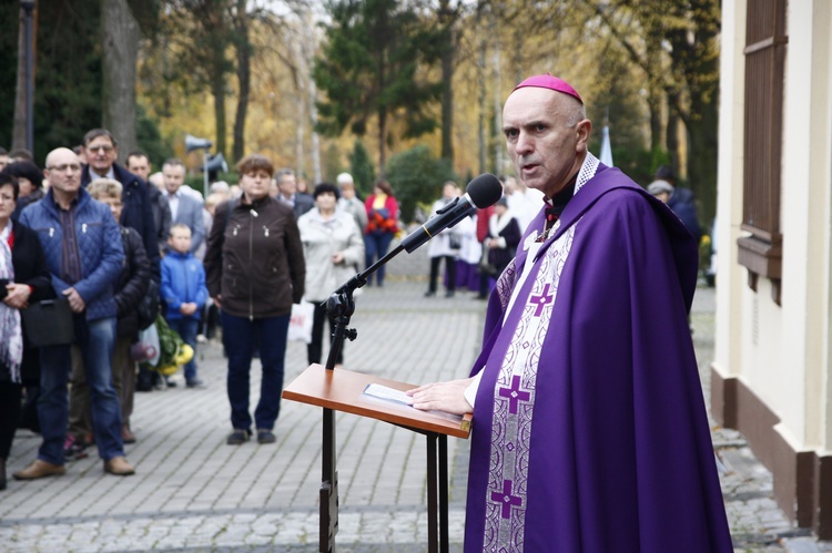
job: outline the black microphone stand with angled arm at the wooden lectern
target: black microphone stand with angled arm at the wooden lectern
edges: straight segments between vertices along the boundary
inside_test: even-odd
[[[404,246],[396,246],[387,255],[356,274],[344,283],[326,300],[326,314],[333,321],[333,336],[329,344],[329,355],[326,358],[326,370],[335,369],[335,361],[344,347],[344,340],[355,340],[358,331],[349,327],[349,319],[355,313],[353,293],[367,284],[367,277],[378,270],[393,257],[402,253]],[[338,471],[335,459],[335,411],[324,408],[324,438],[322,450],[321,475],[321,520],[319,520],[319,551],[329,553],[335,551],[335,534],[338,532]]]

